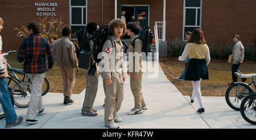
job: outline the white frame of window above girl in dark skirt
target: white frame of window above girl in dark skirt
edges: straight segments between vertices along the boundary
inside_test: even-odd
[[[182,40],[185,40],[185,27],[199,27],[201,29],[202,27],[202,7],[203,7],[203,0],[200,0],[200,7],[185,7],[185,2],[186,0],[183,1],[183,33],[182,33]],[[186,9],[196,9],[196,22],[195,22],[195,26],[186,26],[185,25],[185,18],[186,18]],[[197,11],[198,9],[200,9],[200,26],[197,26]]]

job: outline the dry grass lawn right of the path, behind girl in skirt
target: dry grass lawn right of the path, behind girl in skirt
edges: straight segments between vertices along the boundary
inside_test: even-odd
[[[183,95],[191,95],[193,86],[191,81],[175,79],[179,77],[183,71],[184,61],[177,61],[177,58],[159,58],[160,66],[162,67],[166,77],[175,85],[175,87]],[[245,61],[239,70],[242,74],[256,73],[256,62]],[[225,96],[228,83],[232,82],[231,66],[228,60],[211,60],[208,65],[209,80],[201,82],[201,94],[203,96]],[[249,83],[251,79],[247,79]],[[253,85],[253,90],[256,92]]]

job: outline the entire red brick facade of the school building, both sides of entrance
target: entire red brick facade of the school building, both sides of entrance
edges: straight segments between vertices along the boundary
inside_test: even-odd
[[[22,37],[16,37],[14,28],[27,26],[32,21],[39,21],[43,16],[36,16],[35,2],[49,2],[48,0],[0,1],[0,16],[5,20],[1,32],[3,50],[18,50]],[[57,2],[54,18],[69,24],[69,1],[55,0]],[[88,0],[88,23],[102,24],[102,1]],[[150,28],[153,30],[156,21],[163,21],[163,0],[160,1],[117,1],[117,17],[119,18],[120,5],[150,5]],[[256,33],[256,1],[255,0],[204,0],[202,29],[208,42],[214,40],[215,44],[232,42],[232,35],[238,34],[242,41],[253,43]],[[50,19],[51,17],[49,17]],[[104,0],[104,24],[114,19],[114,1]],[[183,0],[166,1],[166,39],[172,40],[183,35]]]

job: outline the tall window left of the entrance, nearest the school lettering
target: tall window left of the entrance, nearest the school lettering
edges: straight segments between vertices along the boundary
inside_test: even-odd
[[[87,0],[69,0],[69,27],[74,34],[87,23]],[[71,39],[75,39],[71,36]]]

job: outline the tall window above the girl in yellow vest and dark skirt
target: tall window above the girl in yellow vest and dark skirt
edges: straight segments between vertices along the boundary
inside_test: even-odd
[[[184,0],[183,11],[183,40],[185,32],[192,32],[195,28],[201,29],[202,0]]]

